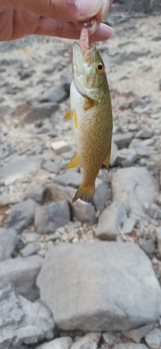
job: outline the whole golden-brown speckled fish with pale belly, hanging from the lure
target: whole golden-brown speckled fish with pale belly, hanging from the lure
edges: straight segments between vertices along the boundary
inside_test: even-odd
[[[82,47],[81,47],[82,46]],[[95,179],[102,166],[109,170],[112,146],[112,103],[105,64],[94,41],[72,49],[72,84],[70,110],[64,119],[72,118],[76,151],[68,168],[81,168],[82,181],[72,202],[91,202]]]

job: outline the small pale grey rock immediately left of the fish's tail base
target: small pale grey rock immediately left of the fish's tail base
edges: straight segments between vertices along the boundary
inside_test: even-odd
[[[82,174],[74,170],[66,170],[63,174],[56,177],[55,182],[62,186],[74,186],[78,188],[82,179]]]

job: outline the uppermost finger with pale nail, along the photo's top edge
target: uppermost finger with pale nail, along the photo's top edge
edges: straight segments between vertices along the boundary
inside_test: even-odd
[[[110,0],[1,0],[1,8],[26,10],[57,20],[80,22],[105,17]]]

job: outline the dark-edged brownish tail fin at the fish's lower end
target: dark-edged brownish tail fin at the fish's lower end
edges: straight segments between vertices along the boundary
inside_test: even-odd
[[[75,202],[78,199],[81,199],[85,202],[91,202],[93,195],[95,192],[95,183],[92,186],[87,186],[82,182],[75,193],[74,198],[72,199],[72,202]]]

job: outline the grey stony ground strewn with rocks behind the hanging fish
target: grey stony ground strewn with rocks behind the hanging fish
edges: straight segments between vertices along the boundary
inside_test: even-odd
[[[108,22],[112,158],[90,204],[63,170],[71,40],[0,43],[1,349],[161,348],[161,16]]]

